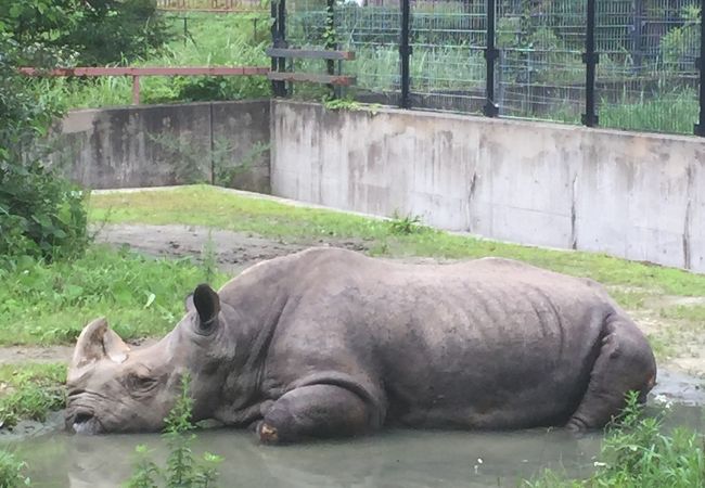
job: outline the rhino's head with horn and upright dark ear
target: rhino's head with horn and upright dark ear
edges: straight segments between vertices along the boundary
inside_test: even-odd
[[[187,298],[185,317],[153,346],[130,350],[105,319],[92,321],[78,337],[68,369],[66,427],[80,434],[158,431],[184,372],[194,378],[194,418],[208,416],[209,385],[218,378],[203,376],[217,374],[213,346],[225,322],[218,294],[208,285],[196,287]]]

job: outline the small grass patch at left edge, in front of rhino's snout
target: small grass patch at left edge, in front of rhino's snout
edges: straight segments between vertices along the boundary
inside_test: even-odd
[[[0,423],[13,426],[22,419],[43,422],[51,410],[66,403],[66,364],[0,365]]]

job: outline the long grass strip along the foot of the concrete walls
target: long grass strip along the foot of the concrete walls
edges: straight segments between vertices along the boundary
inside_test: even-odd
[[[592,278],[608,285],[638,287],[649,294],[705,295],[705,277],[678,269],[602,254],[503,244],[428,228],[399,234],[394,231],[394,221],[289,206],[226,194],[205,185],[93,195],[91,206],[91,219],[99,221],[200,224],[304,244],[318,243],[321,239],[359,240],[367,244],[372,255],[441,258],[501,256],[567,274]]]

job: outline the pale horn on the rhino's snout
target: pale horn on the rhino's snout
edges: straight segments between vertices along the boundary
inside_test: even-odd
[[[78,370],[101,359],[120,363],[127,359],[129,350],[119,335],[107,326],[107,320],[95,319],[78,336],[70,369]]]

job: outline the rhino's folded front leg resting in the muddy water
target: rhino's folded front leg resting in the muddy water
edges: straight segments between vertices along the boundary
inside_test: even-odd
[[[370,407],[356,394],[333,385],[295,388],[264,412],[257,425],[266,444],[310,437],[355,436],[373,427]]]

